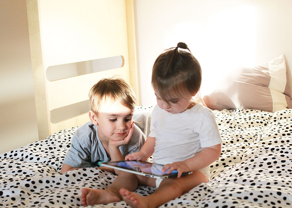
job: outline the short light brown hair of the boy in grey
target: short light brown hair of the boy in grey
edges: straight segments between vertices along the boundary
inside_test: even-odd
[[[132,111],[135,109],[135,93],[128,83],[119,77],[104,78],[89,91],[91,110],[96,115],[100,110],[101,102],[107,99],[112,102],[118,100]]]

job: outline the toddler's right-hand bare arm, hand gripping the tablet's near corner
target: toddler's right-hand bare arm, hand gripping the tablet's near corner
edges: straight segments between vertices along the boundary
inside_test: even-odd
[[[164,165],[162,171],[166,171],[168,168],[168,173],[171,173],[173,170],[177,170],[179,178],[183,172],[200,170],[201,168],[207,167],[208,165],[216,161],[219,158],[220,154],[221,144],[217,144],[211,147],[205,147],[198,154],[191,158],[188,158],[184,161]]]

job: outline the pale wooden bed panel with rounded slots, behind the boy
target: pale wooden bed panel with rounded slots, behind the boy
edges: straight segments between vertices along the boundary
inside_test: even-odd
[[[88,92],[102,78],[124,78],[139,101],[133,0],[28,0],[27,10],[40,140],[89,121]],[[109,57],[121,57],[121,67],[53,81],[47,76],[53,66]]]

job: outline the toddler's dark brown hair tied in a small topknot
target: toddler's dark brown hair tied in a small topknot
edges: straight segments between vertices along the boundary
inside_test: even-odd
[[[187,90],[190,94],[199,91],[202,72],[199,61],[185,43],[178,43],[160,54],[152,69],[152,87],[163,100],[169,92],[180,94]]]

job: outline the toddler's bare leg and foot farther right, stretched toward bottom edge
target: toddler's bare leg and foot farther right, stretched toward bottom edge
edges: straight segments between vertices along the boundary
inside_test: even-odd
[[[183,195],[183,193],[190,191],[195,186],[207,182],[208,179],[203,173],[194,171],[192,174],[181,178],[164,179],[154,193],[145,197],[124,188],[121,188],[120,194],[131,207],[156,208]]]

